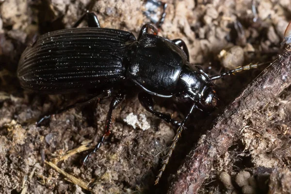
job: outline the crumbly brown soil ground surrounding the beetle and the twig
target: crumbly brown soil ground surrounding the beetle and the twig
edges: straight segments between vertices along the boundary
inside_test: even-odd
[[[250,63],[270,64],[285,50],[280,43],[291,20],[290,0],[164,2],[167,15],[159,35],[184,40],[190,62],[201,65],[209,75]],[[137,37],[142,25],[150,22],[144,14],[148,5],[145,0],[0,0],[1,194],[173,193],[186,155],[207,141],[205,134],[218,122],[217,116],[268,65],[214,81],[218,109],[191,115],[157,186],[155,178],[177,129],[140,105],[137,88],[113,112],[112,135],[82,166],[88,148],[103,134],[112,98],[55,114],[36,127],[42,115],[88,96],[31,93],[20,87],[16,77],[20,55],[35,35],[70,28],[90,7],[101,27],[129,31]],[[161,11],[157,7],[152,17]],[[187,113],[185,103],[154,99],[155,110],[174,119],[182,120]],[[242,123],[236,129],[240,137],[226,152],[214,156],[197,193],[291,192],[290,89],[266,99],[264,106],[236,118]]]

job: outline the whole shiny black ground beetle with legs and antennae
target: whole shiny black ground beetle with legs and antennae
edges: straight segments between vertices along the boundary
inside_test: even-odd
[[[258,66],[246,65],[209,77],[198,66],[190,65],[188,49],[181,39],[171,41],[156,35],[158,32],[153,25],[144,25],[136,39],[130,32],[100,28],[94,12],[85,13],[74,27],[84,18],[89,27],[49,32],[27,47],[20,58],[17,77],[23,88],[46,94],[98,91],[105,87],[106,90],[93,98],[93,101],[109,97],[114,91],[104,135],[83,162],[96,152],[104,138],[111,133],[112,112],[125,98],[129,88],[141,88],[143,92],[138,98],[146,110],[178,126],[177,135],[156,183],[194,108],[217,106],[218,98],[211,81]],[[149,30],[154,34],[148,33]],[[155,111],[152,96],[175,96],[179,100],[192,102],[192,106],[185,119],[179,122],[169,114]],[[37,124],[49,117],[43,117]]]

